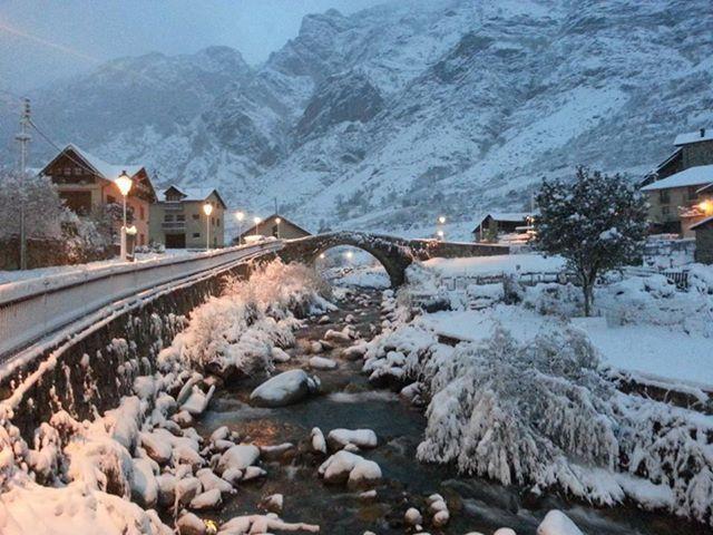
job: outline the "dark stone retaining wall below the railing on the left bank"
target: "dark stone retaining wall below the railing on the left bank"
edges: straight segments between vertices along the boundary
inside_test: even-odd
[[[14,396],[12,421],[26,439],[62,408],[77,419],[118,406],[136,377],[154,371],[160,349],[185,325],[191,311],[223,289],[226,275],[246,278],[253,264],[163,294],[125,311],[86,335],[47,348],[0,381],[0,399]],[[39,370],[39,371],[38,371]],[[37,372],[38,379],[28,381]],[[18,386],[27,390],[20,396]]]

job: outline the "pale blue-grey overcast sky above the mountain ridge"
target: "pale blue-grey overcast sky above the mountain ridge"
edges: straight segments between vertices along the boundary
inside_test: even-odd
[[[0,88],[21,91],[148,51],[238,49],[250,64],[296,36],[302,17],[388,0],[0,0]]]

